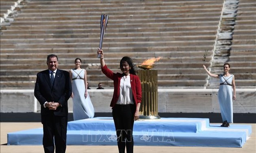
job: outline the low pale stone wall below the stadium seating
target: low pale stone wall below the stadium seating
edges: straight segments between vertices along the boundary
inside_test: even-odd
[[[1,113],[40,112],[34,90],[1,90]],[[219,113],[218,89],[158,89],[159,113]],[[111,112],[113,89],[90,89],[95,112]],[[72,98],[69,99],[72,112]],[[256,113],[256,89],[236,89],[234,113]]]

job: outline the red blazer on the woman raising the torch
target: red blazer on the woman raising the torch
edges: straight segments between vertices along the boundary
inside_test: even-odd
[[[111,80],[114,81],[114,93],[113,98],[111,100],[111,107],[114,107],[117,103],[120,94],[120,80],[123,77],[121,73],[114,73],[108,67],[105,66],[101,68],[102,72]],[[137,75],[130,74],[130,84],[132,88],[132,96],[133,100],[135,101],[136,105],[141,103],[141,81]]]

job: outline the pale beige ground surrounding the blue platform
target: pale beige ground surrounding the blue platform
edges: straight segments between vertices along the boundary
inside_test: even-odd
[[[249,125],[252,125],[252,134],[243,148],[135,146],[134,153],[256,153],[256,124]],[[42,127],[40,122],[1,122],[0,153],[43,153],[43,146],[7,145],[7,133],[39,127]],[[117,146],[67,146],[66,153],[118,153],[118,150]]]

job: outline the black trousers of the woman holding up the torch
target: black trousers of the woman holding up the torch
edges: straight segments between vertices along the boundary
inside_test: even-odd
[[[133,124],[134,114],[136,110],[135,104],[119,105],[113,107],[112,115],[117,133],[117,145],[119,153],[133,153]]]

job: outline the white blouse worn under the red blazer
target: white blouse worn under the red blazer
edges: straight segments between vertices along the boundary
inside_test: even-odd
[[[117,104],[126,105],[134,104],[132,98],[132,88],[130,83],[130,75],[124,76],[120,80],[120,94]]]

